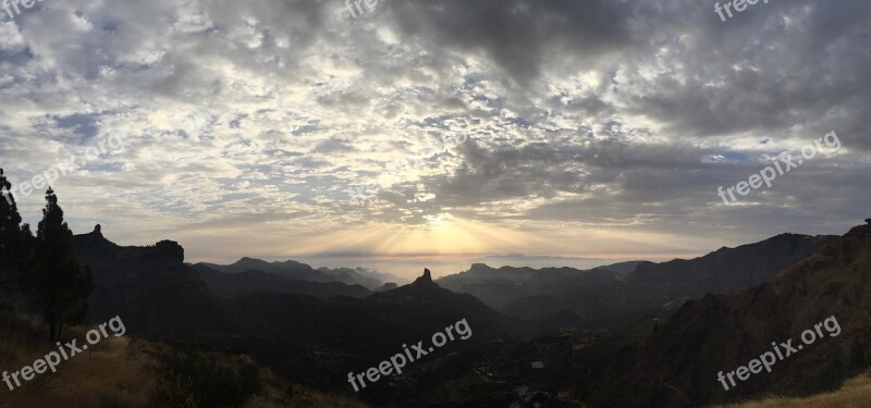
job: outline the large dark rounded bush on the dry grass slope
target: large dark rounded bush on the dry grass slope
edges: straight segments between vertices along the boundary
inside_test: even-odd
[[[237,408],[260,391],[259,367],[242,358],[175,346],[157,356],[156,405]]]

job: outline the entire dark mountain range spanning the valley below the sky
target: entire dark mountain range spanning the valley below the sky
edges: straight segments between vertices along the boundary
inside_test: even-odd
[[[699,406],[815,391],[832,361],[848,361],[852,344],[868,338],[871,311],[871,225],[843,237],[783,234],[663,263],[473,264],[403,286],[294,261],[189,264],[174,242],[123,247],[99,227],[76,235],[74,249],[94,271],[87,322],[122,316],[130,335],[243,351],[293,382],[377,406]],[[717,371],[830,314],[843,337],[736,390],[720,387]],[[348,372],[461,319],[469,339],[352,391]]]

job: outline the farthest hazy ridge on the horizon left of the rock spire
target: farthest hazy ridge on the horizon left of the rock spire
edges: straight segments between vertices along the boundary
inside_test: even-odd
[[[242,273],[248,271],[261,271],[279,275],[281,277],[294,281],[309,281],[309,282],[341,282],[347,285],[360,285],[367,289],[376,289],[383,285],[385,282],[372,277],[371,273],[364,272],[363,269],[314,269],[310,265],[293,260],[283,262],[267,262],[261,259],[242,258],[235,263],[222,265],[216,263],[200,262],[194,267],[208,268],[210,270],[224,272],[224,273]]]

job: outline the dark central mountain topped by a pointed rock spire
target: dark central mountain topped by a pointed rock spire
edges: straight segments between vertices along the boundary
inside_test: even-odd
[[[450,347],[427,360],[429,363],[461,351],[452,358],[468,360],[488,342],[506,338],[516,331],[512,321],[475,297],[443,289],[424,276],[410,285],[365,299],[262,293],[228,301],[236,313],[234,320],[243,322],[241,333],[246,335],[236,336],[223,346],[247,350],[293,381],[341,392],[349,387],[348,370],[373,367],[402,353],[403,345],[418,341],[429,344],[433,333],[443,332],[462,319],[468,322],[473,336],[449,343]],[[443,369],[453,370],[453,366]],[[404,381],[417,383],[421,374],[416,373],[427,367],[424,362],[418,369],[408,367]],[[402,390],[419,391],[395,383],[375,387],[390,388],[391,398],[398,398]]]

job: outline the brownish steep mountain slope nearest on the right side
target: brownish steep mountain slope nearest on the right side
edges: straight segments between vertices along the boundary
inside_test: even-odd
[[[687,301],[651,337],[614,359],[588,361],[582,393],[594,406],[621,400],[626,407],[676,407],[834,388],[868,364],[870,267],[871,225],[857,226],[769,282]],[[801,339],[810,338],[808,330],[811,344]],[[717,380],[720,371],[773,356],[772,342],[789,339],[797,350],[778,358],[771,372],[736,379],[728,391]]]

